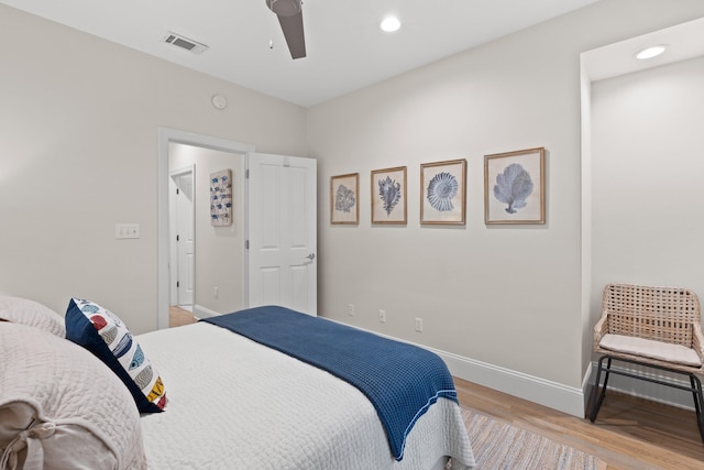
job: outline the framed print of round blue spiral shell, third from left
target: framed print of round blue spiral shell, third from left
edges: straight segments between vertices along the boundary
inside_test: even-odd
[[[464,225],[466,160],[420,165],[420,223]]]

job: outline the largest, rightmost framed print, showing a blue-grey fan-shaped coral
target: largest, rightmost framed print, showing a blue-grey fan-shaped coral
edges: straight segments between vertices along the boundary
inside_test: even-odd
[[[546,222],[546,150],[484,156],[484,223]]]

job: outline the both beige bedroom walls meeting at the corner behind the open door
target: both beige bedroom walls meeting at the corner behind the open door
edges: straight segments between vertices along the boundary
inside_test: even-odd
[[[157,128],[182,129],[318,159],[323,316],[579,394],[580,53],[702,15],[701,0],[604,0],[306,110],[0,6],[0,292],[57,311],[89,297],[154,329]],[[547,223],[486,227],[483,155],[532,146],[548,150]],[[466,225],[421,228],[419,165],[454,159]],[[370,172],[398,165],[408,225],[372,227]],[[331,226],[329,178],[352,172],[361,223]],[[118,222],[141,238],[116,240]]]

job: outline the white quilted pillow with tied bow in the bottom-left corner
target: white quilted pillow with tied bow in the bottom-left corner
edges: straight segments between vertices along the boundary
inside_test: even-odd
[[[98,359],[0,323],[0,468],[146,469],[140,414]]]

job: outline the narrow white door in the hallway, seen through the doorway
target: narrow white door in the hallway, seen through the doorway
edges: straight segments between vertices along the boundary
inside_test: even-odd
[[[195,230],[194,230],[194,173],[187,172],[174,177],[176,183],[176,291],[178,305],[194,303],[195,277]]]

